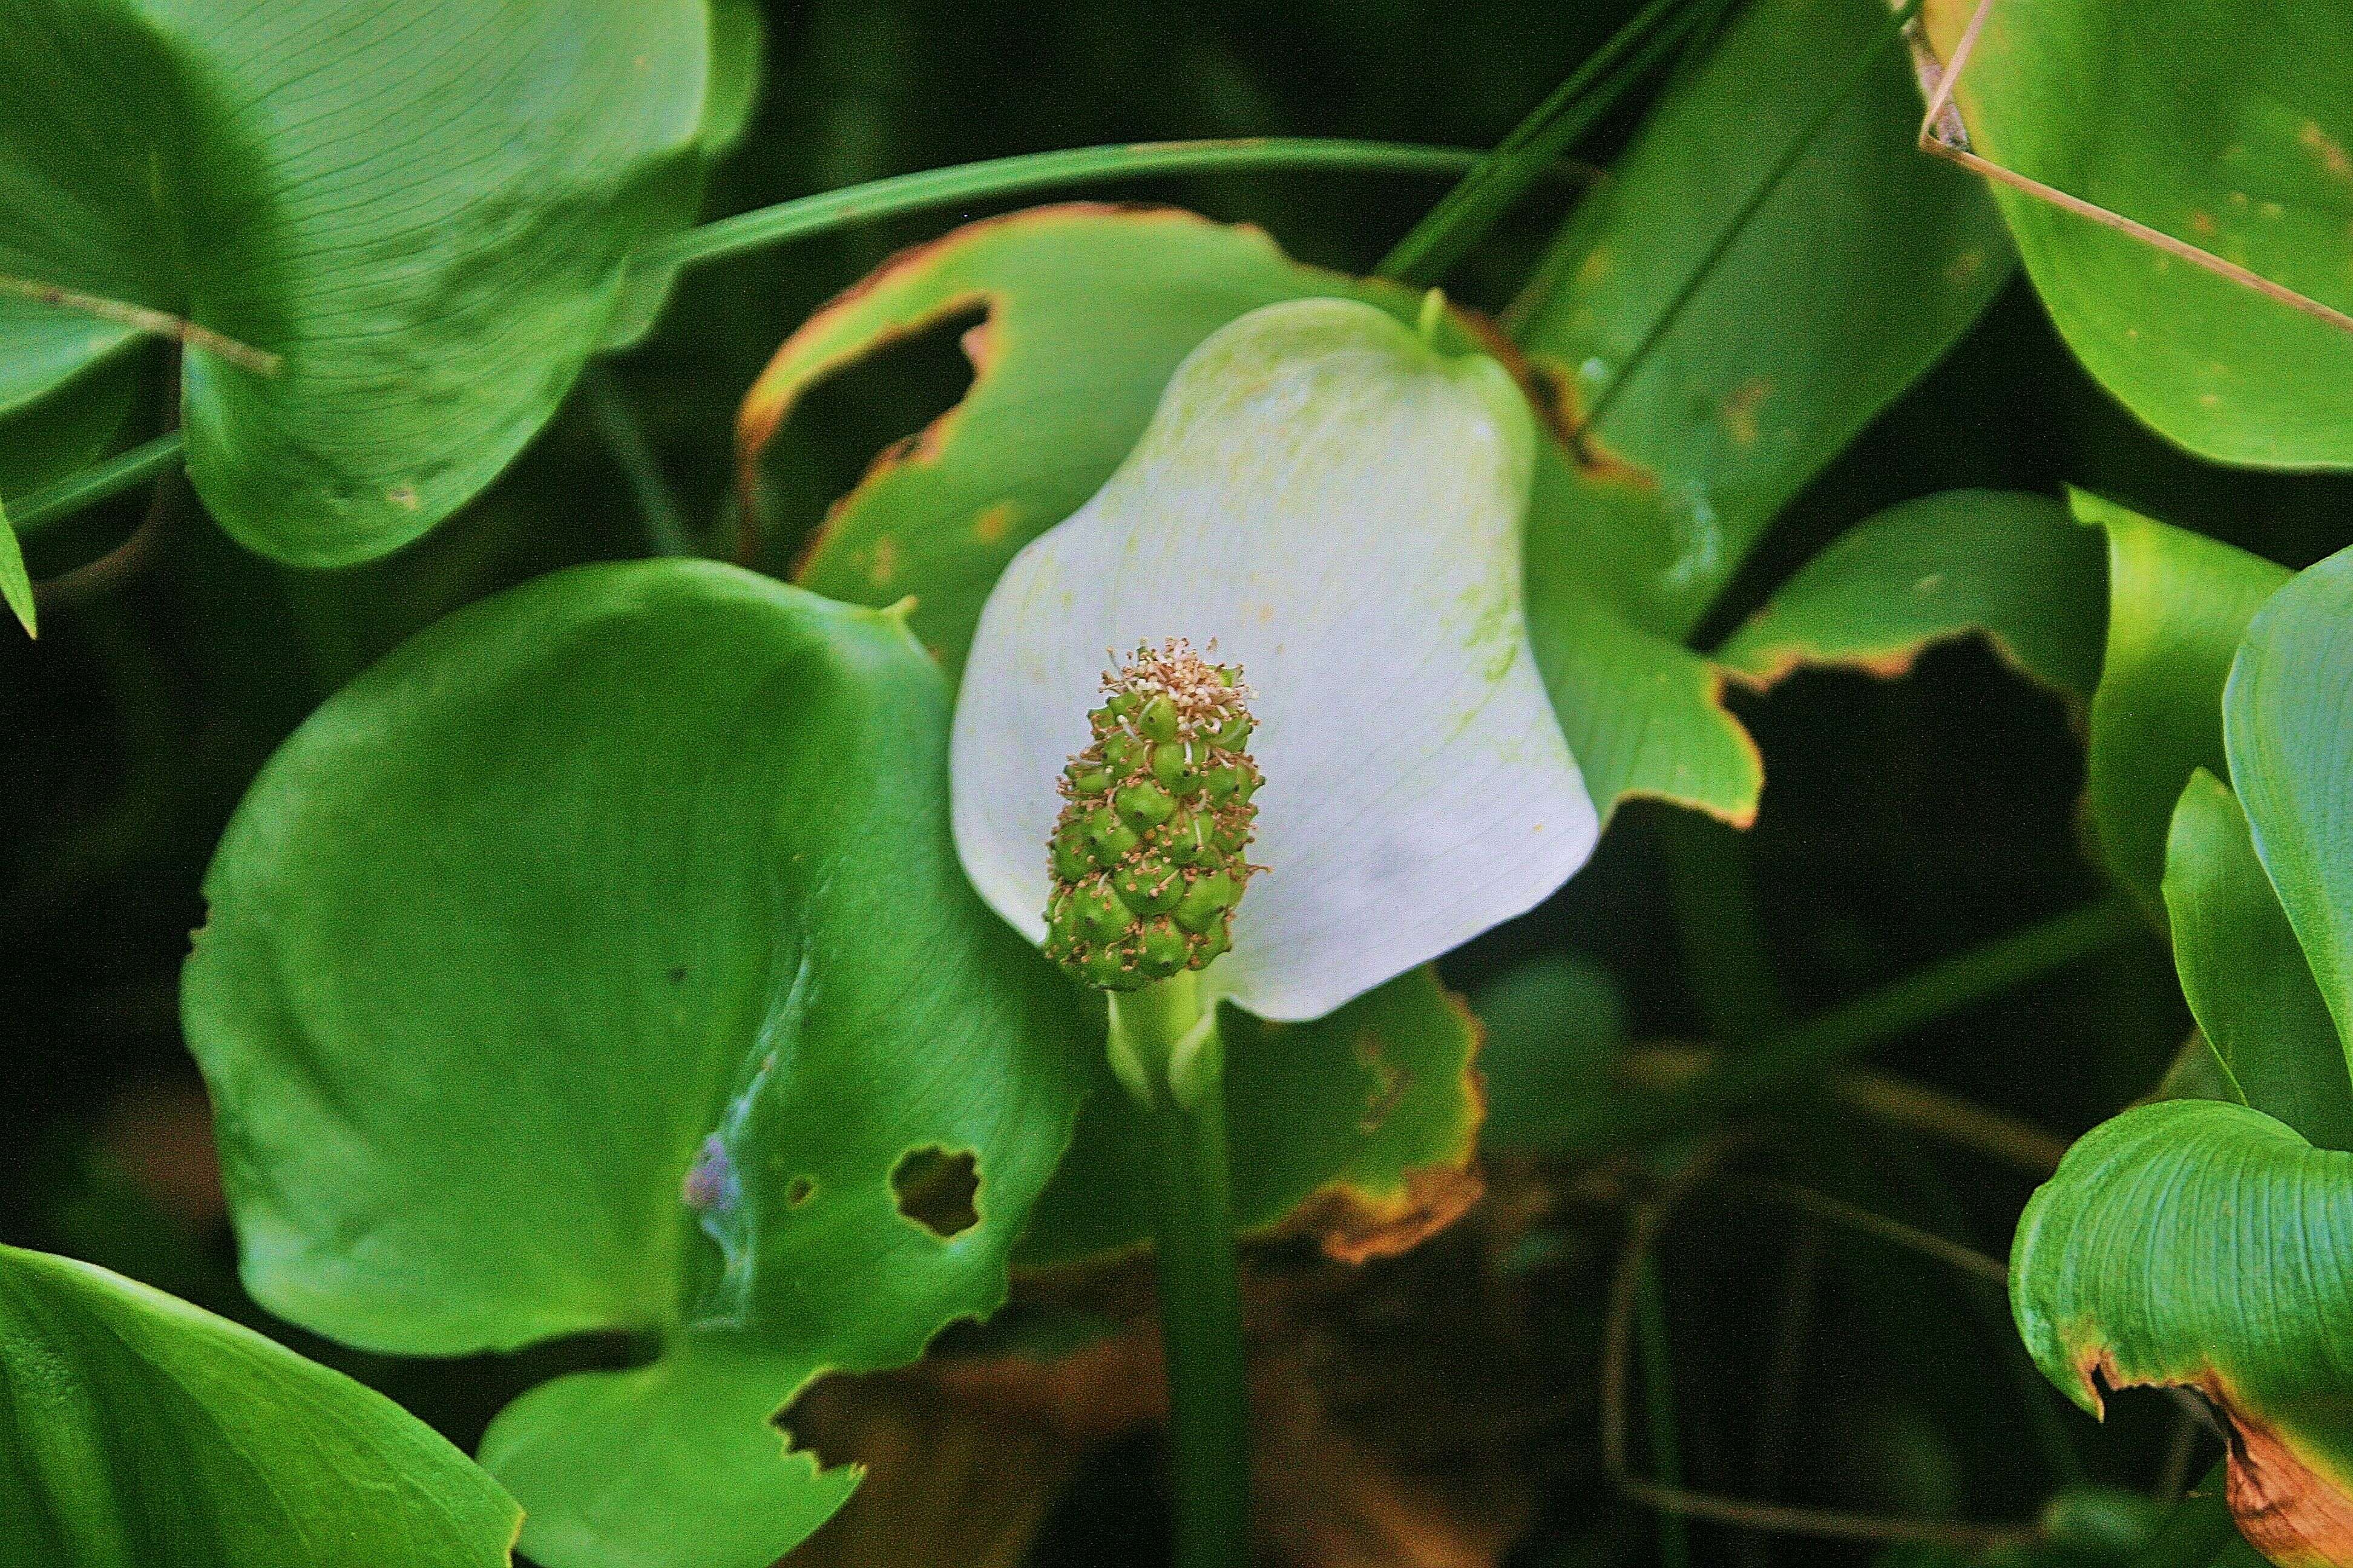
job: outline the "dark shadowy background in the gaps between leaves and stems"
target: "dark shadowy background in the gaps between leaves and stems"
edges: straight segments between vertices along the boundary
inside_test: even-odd
[[[1101,141],[1266,132],[1482,146],[1631,9],[779,5],[760,118],[708,207]],[[1638,108],[1581,155],[1607,162]],[[1440,190],[1315,174],[1099,195],[1257,221],[1301,259],[1362,270]],[[1534,193],[1452,292],[1501,306],[1569,200],[1565,186]],[[976,212],[699,270],[656,336],[598,371],[638,409],[694,520],[725,505],[734,402],[784,334],[892,249]],[[155,355],[155,390],[127,440],[158,428],[169,374]],[[800,442],[779,480],[786,505],[814,522],[875,449],[948,407],[965,376],[953,343],[936,339],[824,388],[795,421]],[[2344,543],[2353,501],[2344,480],[2228,473],[2169,449],[2082,376],[2014,282],[1791,505],[1708,630],[1734,625],[1878,505],[1958,484],[2061,482],[2289,567]],[[233,1281],[202,1091],[176,1030],[176,976],[202,919],[212,842],[268,750],[400,637],[501,585],[645,543],[579,395],[485,498],[388,562],[348,574],[271,567],[226,543],[184,482],[167,482],[153,498],[125,496],[45,531],[35,576],[106,555],[151,505],[160,522],[148,543],[45,602],[38,644],[0,632],[0,1239],[94,1258],[256,1319]],[[1631,804],[1591,870],[1454,954],[1449,978],[1475,994],[1520,964],[1577,954],[1619,987],[1633,1039],[1715,1039],[1805,1018],[2104,891],[2082,853],[2073,717],[1977,646],[1932,651],[1901,682],[1798,677],[1744,701],[1741,715],[1769,773],[1751,835]],[[1678,872],[1699,891],[1678,896]],[[1694,952],[1687,929],[1718,936]],[[2144,1093],[2186,1032],[2169,966],[2146,940],[1951,1013],[1889,1041],[1875,1063],[2068,1135]],[[1769,1157],[1746,1168],[1995,1258],[2007,1251],[2028,1173],[1889,1133],[1819,1093],[1762,1114]],[[1489,1535],[1515,1542],[1513,1563],[1678,1554],[1673,1530],[1612,1493],[1595,1448],[1602,1295],[1626,1197],[1657,1168],[1645,1154],[1657,1152],[1501,1161],[1497,1199],[1459,1234],[1362,1274],[1266,1260],[1280,1295],[1264,1307],[1268,1333],[1322,1356],[1308,1382],[1329,1446],[1362,1448],[1367,1476],[1400,1479],[1424,1544],[1442,1521],[1485,1512],[1508,1521]],[[1718,1197],[1678,1220],[1661,1262],[1675,1446],[1692,1486],[2014,1521],[2071,1481],[2146,1490],[2167,1465],[2212,1458],[2212,1439],[2177,1427],[2158,1396],[2118,1401],[2106,1429],[2066,1410],[2024,1368],[1998,1293],[1819,1218]],[[1464,1288],[1471,1276],[1478,1291]],[[461,1441],[534,1375],[515,1363],[393,1366],[271,1331],[391,1387]],[[2191,1441],[2174,1453],[2184,1432]],[[1638,1436],[1635,1462],[1652,1458]],[[1153,1439],[1092,1446],[1075,1462],[1035,1561],[1148,1561],[1160,1509]],[[1047,1474],[1064,1472],[1014,1467],[1002,1488]],[[1875,1552],[1689,1530],[1689,1561]],[[1457,1561],[1405,1556],[1395,1542],[1285,1552]]]

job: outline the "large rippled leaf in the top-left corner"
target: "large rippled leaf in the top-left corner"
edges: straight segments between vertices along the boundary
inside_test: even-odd
[[[739,118],[711,35],[704,0],[12,5],[0,275],[264,355],[188,343],[207,508],[285,562],[381,555],[624,329],[628,254],[692,219],[711,127]],[[7,296],[0,411],[129,336]]]

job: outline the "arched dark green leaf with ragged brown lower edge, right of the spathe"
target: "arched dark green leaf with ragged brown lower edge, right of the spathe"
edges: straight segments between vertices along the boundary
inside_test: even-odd
[[[1760,686],[1805,665],[1901,675],[1925,646],[1977,635],[2085,703],[2099,682],[2104,599],[2099,536],[2068,522],[2064,505],[1955,489],[1847,529],[1715,658]]]

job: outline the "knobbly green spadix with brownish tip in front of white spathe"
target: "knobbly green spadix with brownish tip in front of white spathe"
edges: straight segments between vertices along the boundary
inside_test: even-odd
[[[1242,750],[1238,665],[1172,637],[1139,646],[1104,693],[1059,785],[1045,952],[1087,985],[1136,990],[1226,952],[1264,780]]]

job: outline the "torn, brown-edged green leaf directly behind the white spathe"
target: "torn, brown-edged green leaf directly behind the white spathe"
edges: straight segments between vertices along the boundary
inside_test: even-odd
[[[913,595],[915,632],[953,672],[1005,562],[1111,477],[1176,364],[1233,317],[1304,296],[1365,299],[1400,320],[1421,308],[1391,284],[1299,266],[1254,228],[1184,212],[1071,205],[972,223],[894,259],[776,350],[744,402],[739,461],[751,482],[826,376],[986,313],[965,336],[972,390],[885,454],[795,574],[856,604]],[[1447,353],[1501,348],[1464,317],[1442,331]],[[1762,773],[1718,701],[1720,675],[1631,625],[1562,559],[1529,555],[1529,639],[1595,804],[1607,813],[1633,792],[1753,813]]]

